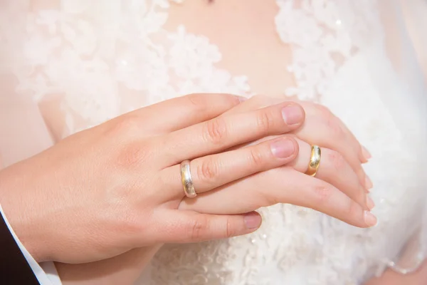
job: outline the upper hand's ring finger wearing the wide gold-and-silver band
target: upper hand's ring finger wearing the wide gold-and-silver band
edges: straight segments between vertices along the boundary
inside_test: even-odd
[[[258,145],[196,158],[190,164],[194,189],[197,193],[206,192],[256,172],[285,165],[294,160],[297,153],[295,139],[282,136]],[[172,195],[183,197],[180,166],[167,167],[161,175]],[[171,193],[165,194],[170,199]]]

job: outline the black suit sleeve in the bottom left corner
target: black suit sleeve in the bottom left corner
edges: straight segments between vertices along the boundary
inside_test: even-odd
[[[0,284],[40,285],[0,213]]]

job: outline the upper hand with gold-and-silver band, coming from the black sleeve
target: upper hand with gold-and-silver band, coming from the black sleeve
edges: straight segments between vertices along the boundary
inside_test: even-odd
[[[71,135],[2,170],[0,203],[11,227],[37,261],[68,263],[255,231],[261,222],[255,213],[177,209],[184,197],[183,160],[192,160],[196,190],[206,192],[297,155],[297,142],[285,136],[223,152],[296,130],[305,118],[296,103],[221,115],[239,103],[223,94],[168,100]],[[221,172],[206,167],[213,158]],[[204,179],[210,176],[214,182]]]

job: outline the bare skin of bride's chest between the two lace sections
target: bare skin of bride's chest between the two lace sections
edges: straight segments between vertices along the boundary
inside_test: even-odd
[[[279,11],[275,0],[185,0],[171,6],[164,27],[176,31],[183,25],[209,38],[221,53],[216,68],[247,76],[253,93],[280,96],[295,83],[288,71],[290,45],[280,40],[275,23]]]

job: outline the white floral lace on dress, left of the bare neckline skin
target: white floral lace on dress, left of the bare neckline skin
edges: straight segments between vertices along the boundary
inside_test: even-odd
[[[36,100],[64,93],[64,135],[85,128],[75,125],[75,114],[87,127],[176,95],[248,93],[245,77],[214,66],[221,54],[207,38],[182,26],[163,30],[169,1],[83,2],[63,0],[60,11],[29,14],[23,48],[29,68],[16,71],[18,89]],[[139,91],[140,103],[122,105],[121,86]]]

